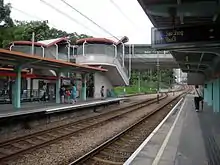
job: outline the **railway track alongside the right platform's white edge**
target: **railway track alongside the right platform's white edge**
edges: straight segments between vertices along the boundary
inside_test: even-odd
[[[176,104],[182,96],[183,94],[161,105],[129,128],[118,133],[69,165],[122,165],[164,116],[169,113],[173,107],[170,104]]]

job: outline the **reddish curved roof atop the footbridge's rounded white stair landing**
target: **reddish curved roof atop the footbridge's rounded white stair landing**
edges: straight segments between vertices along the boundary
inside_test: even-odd
[[[77,45],[81,45],[84,42],[87,43],[98,43],[98,44],[116,44],[113,40],[107,39],[107,38],[83,38],[76,41]]]

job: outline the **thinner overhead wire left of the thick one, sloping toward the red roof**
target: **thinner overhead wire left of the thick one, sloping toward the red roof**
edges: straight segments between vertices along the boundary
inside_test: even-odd
[[[53,10],[57,11],[58,13],[66,16],[67,18],[69,18],[70,20],[72,20],[73,22],[79,24],[80,26],[84,27],[85,29],[90,30],[91,32],[98,34],[96,31],[92,30],[91,28],[85,26],[83,23],[81,23],[80,21],[72,18],[71,16],[69,16],[68,14],[64,13],[63,11],[59,10],[58,8],[54,7],[53,5],[51,5],[50,3],[44,1],[44,0],[40,0],[42,3],[44,3],[45,5],[47,5],[48,7],[52,8]],[[99,34],[98,34],[99,35]]]

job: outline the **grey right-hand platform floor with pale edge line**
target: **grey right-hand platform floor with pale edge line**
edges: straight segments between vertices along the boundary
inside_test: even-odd
[[[202,112],[196,112],[192,95],[187,95],[124,165],[217,165],[219,119],[207,104]]]

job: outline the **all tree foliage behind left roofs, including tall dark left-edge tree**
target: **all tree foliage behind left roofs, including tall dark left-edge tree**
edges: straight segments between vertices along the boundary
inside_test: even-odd
[[[12,41],[30,41],[33,32],[35,33],[35,41],[68,37],[72,43],[75,43],[77,39],[91,37],[50,28],[48,21],[13,21],[10,17],[10,9],[10,4],[4,5],[4,1],[0,0],[0,23],[2,24],[0,27],[0,47],[7,47]]]

